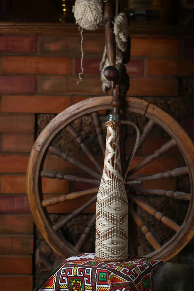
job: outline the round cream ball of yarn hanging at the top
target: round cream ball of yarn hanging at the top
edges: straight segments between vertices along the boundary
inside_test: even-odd
[[[76,0],[73,6],[76,23],[86,30],[96,30],[103,20],[101,0]]]

